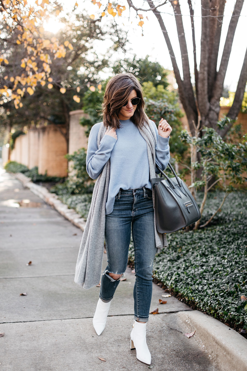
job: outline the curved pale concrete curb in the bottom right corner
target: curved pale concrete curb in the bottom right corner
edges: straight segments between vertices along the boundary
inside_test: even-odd
[[[222,371],[247,370],[247,339],[237,331],[200,311],[178,312],[188,332]]]

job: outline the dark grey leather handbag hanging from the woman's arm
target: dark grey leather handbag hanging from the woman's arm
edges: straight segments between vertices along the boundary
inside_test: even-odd
[[[164,177],[151,179],[155,197],[156,226],[160,233],[175,232],[201,218],[194,197],[177,176],[170,162],[168,165],[174,178],[169,178],[156,164],[157,169]]]

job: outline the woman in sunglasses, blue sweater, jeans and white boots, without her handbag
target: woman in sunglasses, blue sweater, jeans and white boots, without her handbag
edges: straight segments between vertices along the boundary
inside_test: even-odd
[[[146,325],[152,296],[153,260],[167,246],[156,230],[153,190],[155,162],[166,168],[170,159],[170,125],[161,119],[158,129],[144,112],[140,83],[131,73],[116,75],[106,86],[103,122],[89,135],[87,172],[96,179],[87,225],[77,260],[75,282],[90,288],[99,283],[103,244],[108,265],[101,278],[100,298],[93,326],[105,328],[114,292],[127,267],[130,234],[135,253],[134,325],[130,334],[136,357],[151,364]]]

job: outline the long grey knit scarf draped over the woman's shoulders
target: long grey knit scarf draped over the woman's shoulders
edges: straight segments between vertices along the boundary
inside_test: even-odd
[[[147,142],[147,154],[150,170],[150,179],[156,178],[155,173],[155,147],[157,144],[156,132],[152,125],[139,128],[140,134]],[[106,127],[100,125],[97,137],[99,148],[100,141],[106,132]],[[104,231],[106,218],[106,201],[110,181],[110,160],[104,165],[102,173],[96,180],[89,216],[80,244],[79,255],[76,263],[76,274],[74,281],[84,289],[90,289],[100,282],[101,267],[104,249]],[[154,203],[154,190],[153,190]],[[167,247],[166,234],[158,233],[154,213],[154,231],[157,252],[160,248]]]

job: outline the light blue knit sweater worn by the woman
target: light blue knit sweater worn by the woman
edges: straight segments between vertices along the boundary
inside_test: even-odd
[[[119,189],[133,189],[152,185],[149,176],[147,143],[137,126],[131,120],[120,120],[121,128],[116,129],[117,139],[104,135],[100,147],[97,146],[97,136],[101,122],[95,124],[90,131],[87,148],[87,173],[92,179],[97,179],[104,165],[110,158],[110,183],[106,202],[106,214],[113,211],[115,196]],[[165,169],[170,160],[169,137],[158,135],[158,129],[153,121],[157,136],[156,163]]]

